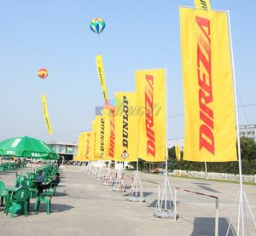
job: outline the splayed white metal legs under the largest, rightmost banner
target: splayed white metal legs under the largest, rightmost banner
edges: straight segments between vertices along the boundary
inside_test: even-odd
[[[246,216],[246,210],[245,210],[245,203],[247,204],[247,207],[248,207],[248,209],[250,211],[250,214],[251,214],[251,217],[253,219],[254,226],[256,227],[256,222],[254,220],[253,212],[251,210],[251,207],[250,207],[250,205],[248,203],[247,195],[246,195],[246,193],[244,191],[242,191],[242,192],[238,191],[238,194],[237,194],[237,197],[236,197],[236,204],[235,204],[234,209],[232,211],[232,215],[231,215],[231,219],[230,219],[230,224],[229,224],[226,236],[228,236],[229,233],[230,233],[230,226],[231,226],[231,223],[232,223],[233,218],[234,218],[234,213],[235,213],[237,204],[238,204],[238,222],[237,222],[236,234],[239,235],[240,231],[241,231],[241,235],[242,236],[249,235],[248,230],[247,230],[247,234],[245,234],[245,228],[244,228],[245,225],[247,226],[247,219],[246,219],[247,216]]]

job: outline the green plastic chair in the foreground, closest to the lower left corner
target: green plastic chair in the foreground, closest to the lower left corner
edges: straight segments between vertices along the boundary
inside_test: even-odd
[[[27,201],[29,199],[30,192],[27,188],[20,188],[18,189],[14,195],[9,200],[9,205],[7,206],[6,216],[8,215],[9,211],[11,211],[11,218],[15,216],[15,212],[17,210],[23,209],[24,216],[27,216]],[[20,207],[21,206],[21,207]]]

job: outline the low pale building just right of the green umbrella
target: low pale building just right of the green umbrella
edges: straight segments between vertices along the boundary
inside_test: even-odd
[[[65,161],[73,160],[74,156],[78,152],[78,144],[76,142],[48,142],[49,147],[55,150],[56,153],[64,158]]]

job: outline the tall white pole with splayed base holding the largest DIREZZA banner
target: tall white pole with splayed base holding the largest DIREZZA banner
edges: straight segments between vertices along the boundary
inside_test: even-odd
[[[241,235],[245,235],[245,210],[244,210],[244,198],[246,199],[246,203],[248,206],[248,209],[251,213],[254,226],[256,227],[256,223],[254,221],[254,217],[250,208],[250,205],[247,202],[246,194],[243,192],[243,185],[242,185],[242,172],[241,172],[241,144],[240,144],[240,136],[239,136],[239,118],[238,118],[238,111],[237,111],[237,95],[236,95],[236,72],[235,72],[235,64],[234,64],[234,54],[233,54],[233,43],[232,43],[232,34],[231,34],[231,25],[230,25],[230,11],[227,11],[228,14],[228,22],[229,22],[229,33],[230,33],[230,54],[231,54],[231,63],[232,63],[232,72],[233,72],[233,86],[234,86],[234,99],[235,99],[235,110],[236,110],[236,139],[237,139],[237,153],[238,153],[238,166],[239,166],[239,192],[237,197],[239,198],[238,201],[238,223],[237,223],[237,235],[240,233],[240,221],[241,221]],[[236,202],[237,204],[237,202]],[[234,210],[236,208],[236,204],[234,206]],[[230,225],[233,219],[233,214],[230,219],[230,224],[226,233],[226,236],[230,232]]]

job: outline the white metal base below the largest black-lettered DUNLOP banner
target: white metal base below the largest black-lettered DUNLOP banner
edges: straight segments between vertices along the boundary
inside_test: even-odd
[[[138,194],[139,190],[139,194]],[[135,179],[131,182],[131,192],[129,193],[129,201],[130,202],[140,202],[144,203],[144,195],[143,195],[143,184],[140,180],[140,176],[138,171],[136,171]]]

